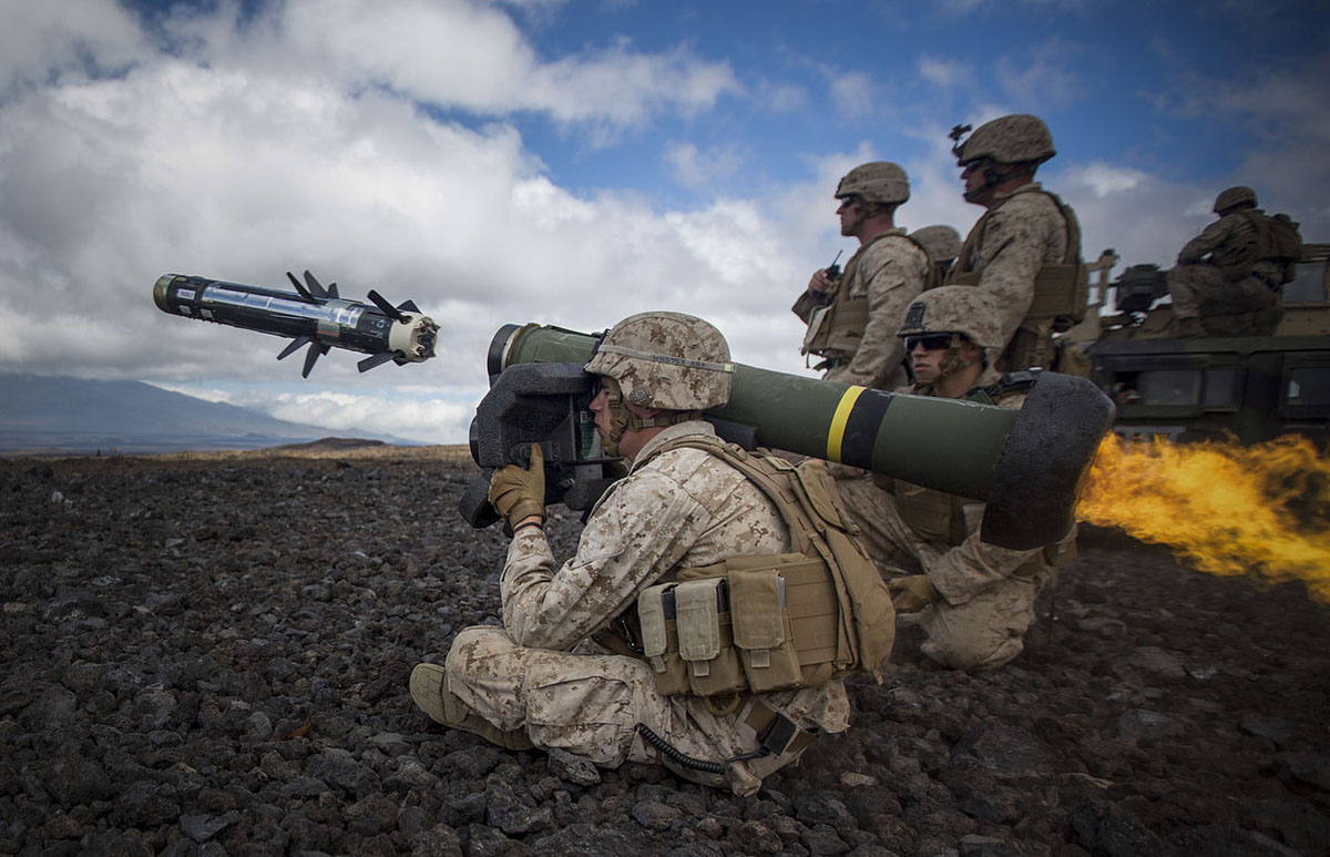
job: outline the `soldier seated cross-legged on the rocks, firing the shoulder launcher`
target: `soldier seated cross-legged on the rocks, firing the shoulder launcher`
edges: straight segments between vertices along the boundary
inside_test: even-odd
[[[734,371],[716,327],[633,315],[587,371],[604,448],[628,475],[557,567],[540,447],[529,470],[495,472],[489,500],[513,531],[503,627],[462,631],[444,665],[415,668],[411,697],[509,749],[657,763],[753,794],[819,733],[847,728],[841,676],[890,656],[891,594],[846,534],[825,468],[745,452],[701,419]]]

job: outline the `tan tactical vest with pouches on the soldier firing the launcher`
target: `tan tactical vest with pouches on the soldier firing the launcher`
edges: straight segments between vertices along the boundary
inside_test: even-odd
[[[617,633],[597,640],[646,660],[664,696],[733,695],[737,704],[738,695],[811,688],[853,672],[880,681],[895,640],[891,592],[858,531],[847,530],[826,466],[700,436],[656,454],[680,447],[721,458],[761,488],[789,528],[791,551],[681,570],[642,590]]]

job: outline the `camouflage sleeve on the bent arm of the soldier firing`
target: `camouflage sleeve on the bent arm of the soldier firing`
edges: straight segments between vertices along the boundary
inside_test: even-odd
[[[612,486],[557,571],[544,534],[520,531],[499,580],[504,628],[519,645],[573,648],[677,566],[708,519],[668,476],[644,470]]]

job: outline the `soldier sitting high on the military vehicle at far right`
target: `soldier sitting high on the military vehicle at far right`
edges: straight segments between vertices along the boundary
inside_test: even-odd
[[[1168,273],[1173,315],[1184,337],[1269,337],[1283,309],[1279,293],[1302,256],[1298,225],[1269,217],[1250,188],[1214,200],[1220,220],[1192,238]]]

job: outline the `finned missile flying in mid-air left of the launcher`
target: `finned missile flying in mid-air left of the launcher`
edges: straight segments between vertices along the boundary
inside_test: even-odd
[[[305,271],[303,283],[290,271],[286,275],[295,286],[294,294],[238,282],[165,274],[153,286],[153,301],[161,311],[172,315],[291,338],[293,342],[277,359],[310,346],[301,370],[303,378],[310,377],[315,361],[329,349],[368,354],[358,363],[360,371],[388,361],[403,366],[434,357],[439,326],[414,302],[392,306],[372,289],[370,303],[346,301],[338,295],[335,282],[325,289],[310,271]]]

